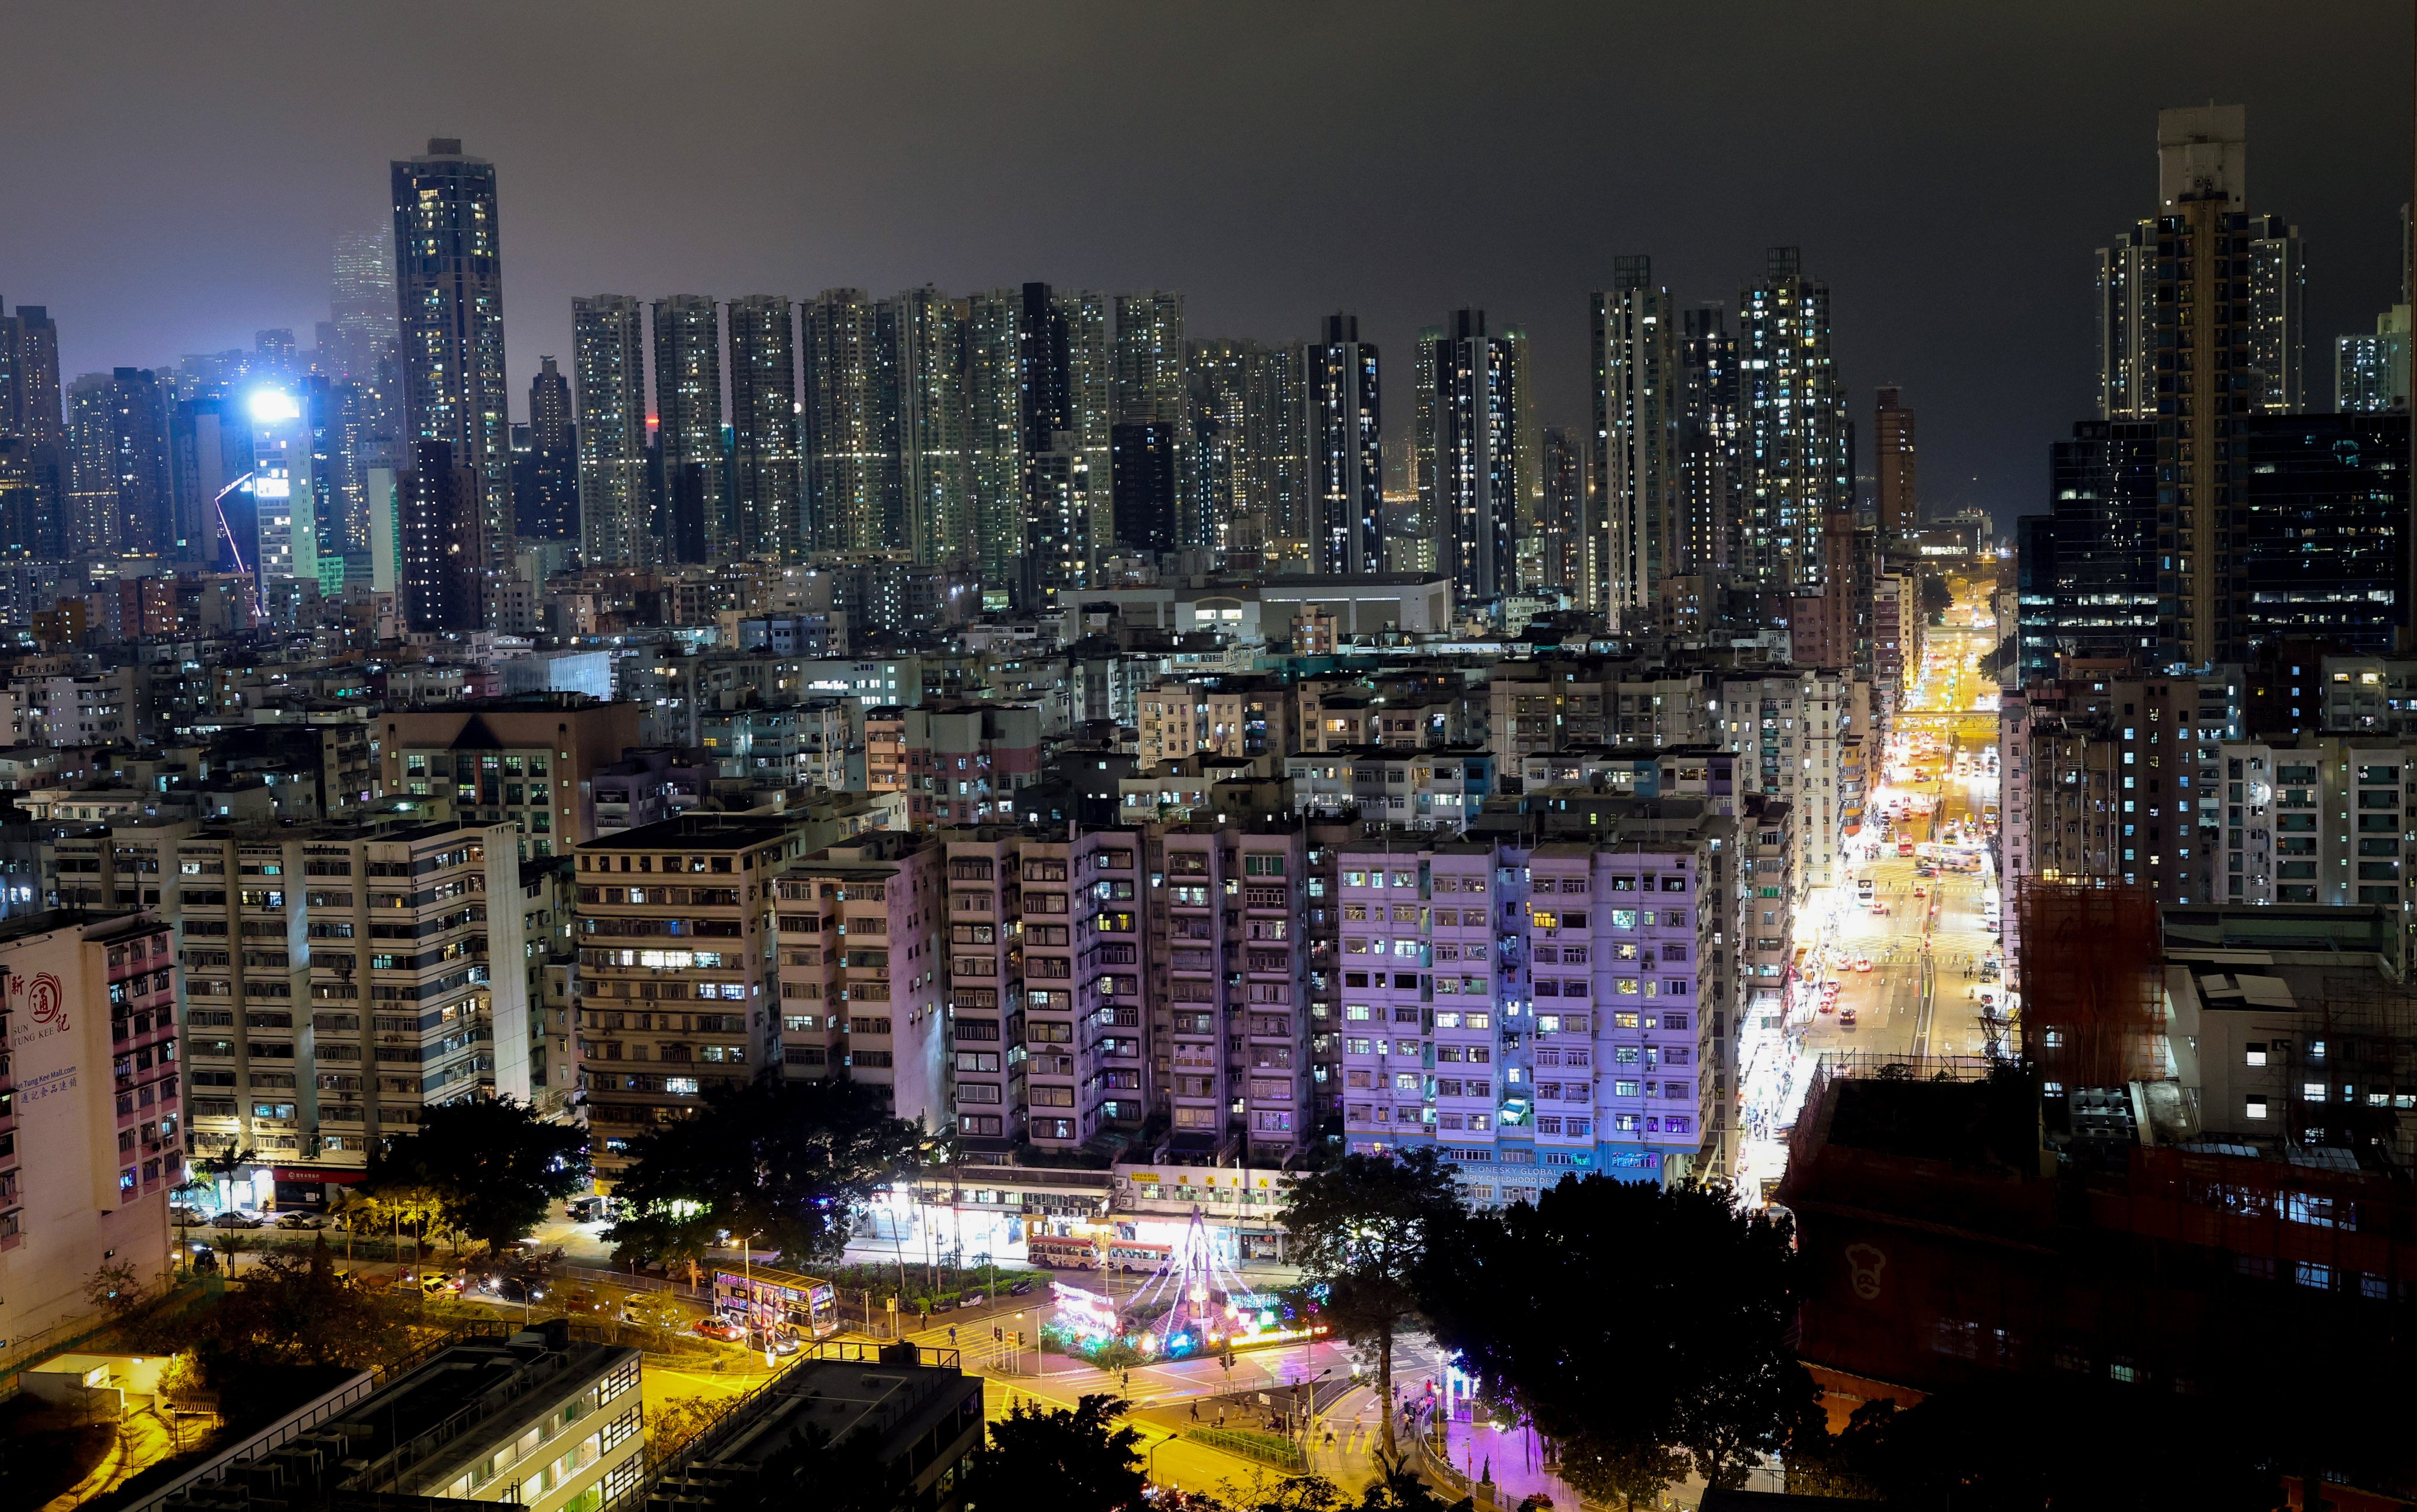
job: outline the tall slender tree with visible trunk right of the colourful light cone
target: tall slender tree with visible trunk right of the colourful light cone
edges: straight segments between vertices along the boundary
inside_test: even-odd
[[[1387,1456],[1397,1452],[1392,1341],[1419,1316],[1416,1275],[1428,1237],[1460,1217],[1460,1186],[1433,1147],[1346,1155],[1293,1181],[1283,1200],[1293,1263],[1327,1287],[1329,1326],[1354,1343],[1375,1345]]]

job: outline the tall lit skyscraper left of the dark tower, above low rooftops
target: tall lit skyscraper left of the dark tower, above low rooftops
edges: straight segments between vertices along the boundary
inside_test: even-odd
[[[1677,471],[1677,316],[1644,256],[1612,258],[1595,295],[1595,498],[1605,580],[1586,585],[1615,630],[1653,623],[1663,582],[1685,560]]]

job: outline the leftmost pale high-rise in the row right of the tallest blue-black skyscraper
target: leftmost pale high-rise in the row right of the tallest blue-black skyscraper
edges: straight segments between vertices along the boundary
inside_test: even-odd
[[[570,302],[580,447],[580,558],[643,568],[657,558],[645,478],[645,324],[631,295]]]

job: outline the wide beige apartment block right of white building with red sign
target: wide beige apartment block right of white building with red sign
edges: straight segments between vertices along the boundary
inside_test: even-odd
[[[53,855],[63,901],[174,927],[186,1147],[259,1152],[263,1203],[321,1200],[430,1104],[541,1087],[510,826],[131,821]]]

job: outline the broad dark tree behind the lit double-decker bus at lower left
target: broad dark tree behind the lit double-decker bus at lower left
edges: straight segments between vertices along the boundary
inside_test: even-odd
[[[790,1263],[836,1258],[856,1210],[928,1157],[921,1128],[892,1118],[870,1084],[713,1087],[691,1118],[638,1140],[614,1198],[614,1244],[657,1261],[701,1258],[723,1237]]]

